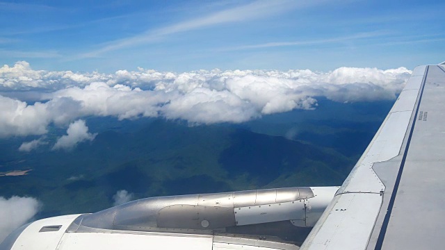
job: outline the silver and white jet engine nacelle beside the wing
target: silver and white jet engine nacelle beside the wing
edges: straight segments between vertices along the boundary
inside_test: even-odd
[[[54,241],[57,247],[66,233],[250,235],[260,240],[267,235],[300,242],[338,188],[277,188],[140,199],[93,214],[41,219],[11,233],[0,249],[14,249],[16,241],[22,246],[31,244],[29,239],[38,239],[45,246]],[[51,239],[45,238],[49,236]]]

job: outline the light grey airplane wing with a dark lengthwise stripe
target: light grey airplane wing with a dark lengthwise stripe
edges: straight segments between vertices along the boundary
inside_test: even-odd
[[[445,65],[414,69],[301,249],[443,249]]]

